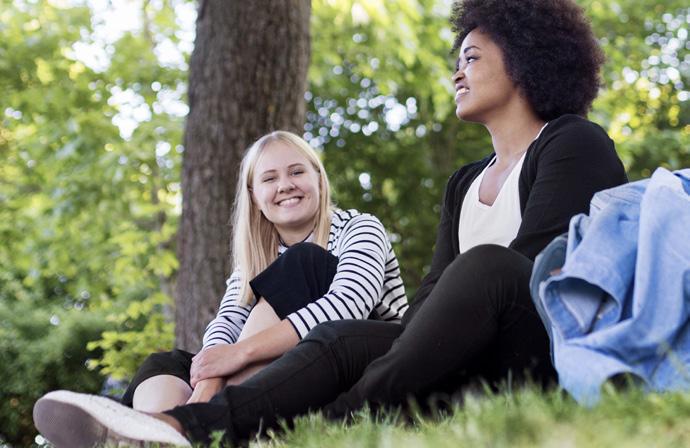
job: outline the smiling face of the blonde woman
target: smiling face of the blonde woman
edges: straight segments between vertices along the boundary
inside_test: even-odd
[[[309,160],[277,140],[259,155],[251,178],[252,200],[288,244],[313,230],[319,210],[319,173]]]

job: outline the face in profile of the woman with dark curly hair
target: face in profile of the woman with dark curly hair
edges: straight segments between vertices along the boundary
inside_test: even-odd
[[[455,114],[461,120],[486,124],[511,103],[521,101],[506,72],[501,49],[478,29],[463,40],[452,79]]]

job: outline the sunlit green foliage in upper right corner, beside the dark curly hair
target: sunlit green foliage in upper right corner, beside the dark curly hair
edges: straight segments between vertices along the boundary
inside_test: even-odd
[[[629,177],[690,166],[687,2],[580,2],[607,64],[593,116],[616,142]]]

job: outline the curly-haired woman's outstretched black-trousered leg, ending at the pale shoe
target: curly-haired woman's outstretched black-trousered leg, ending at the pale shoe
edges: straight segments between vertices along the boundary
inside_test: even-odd
[[[246,382],[226,387],[209,403],[166,414],[196,441],[219,430],[233,440],[247,439],[260,428],[276,427],[280,418],[289,420],[333,401],[389,350],[401,331],[399,324],[371,320],[323,323]]]

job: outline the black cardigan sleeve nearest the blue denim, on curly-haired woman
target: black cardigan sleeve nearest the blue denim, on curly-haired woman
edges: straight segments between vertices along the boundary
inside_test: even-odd
[[[627,181],[613,141],[601,127],[574,116],[553,124],[531,168],[534,182],[509,246],[532,260],[568,230],[570,218],[587,212],[594,193]]]

